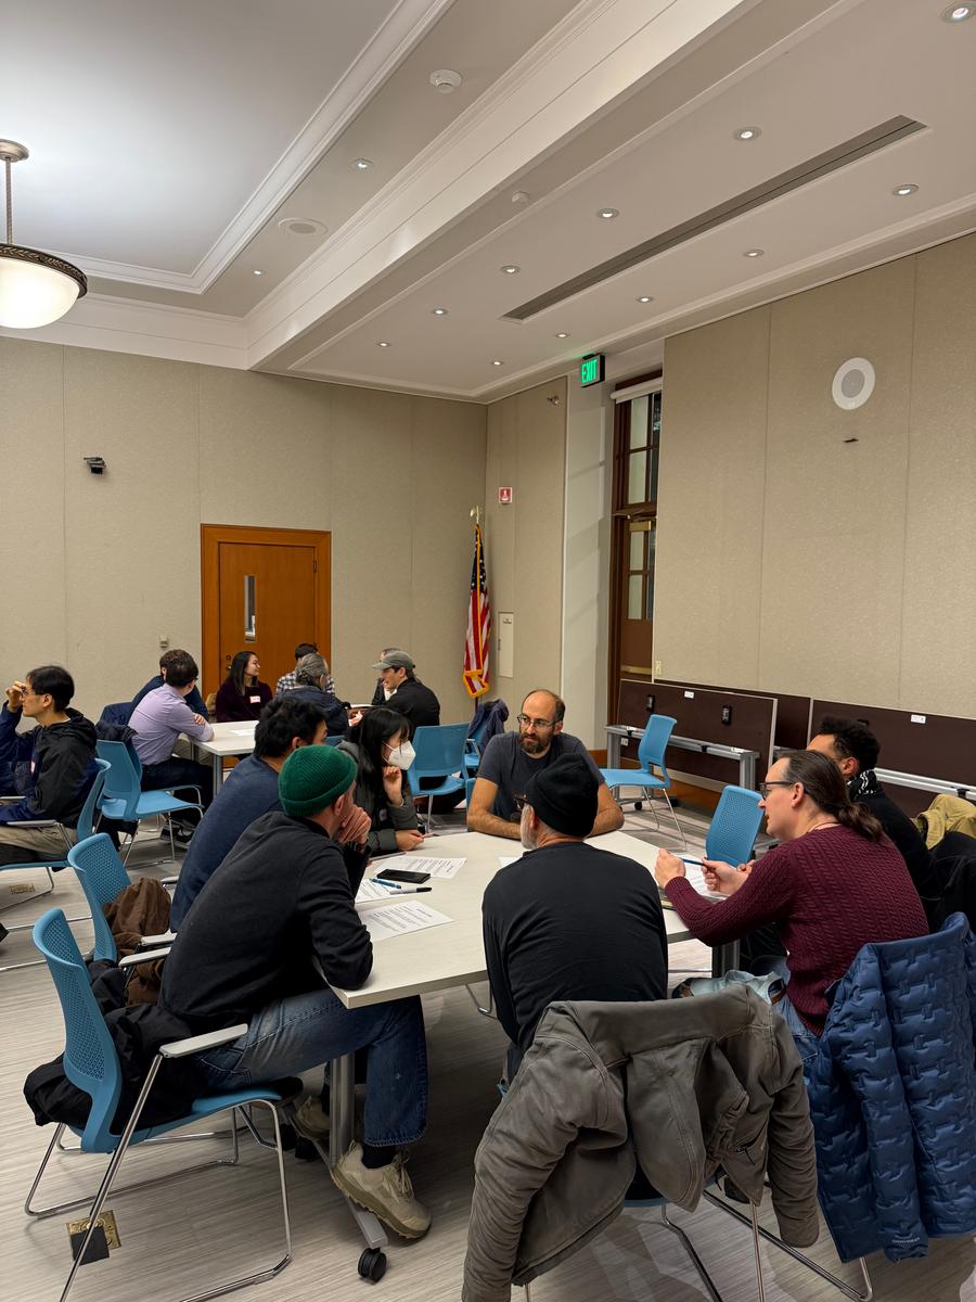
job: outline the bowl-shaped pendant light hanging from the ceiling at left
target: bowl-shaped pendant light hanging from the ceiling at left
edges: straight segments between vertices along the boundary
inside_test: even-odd
[[[0,326],[9,329],[49,326],[88,292],[85,272],[70,262],[13,242],[10,164],[22,163],[26,158],[23,145],[0,141],[0,159],[7,171],[7,243],[0,243]]]

